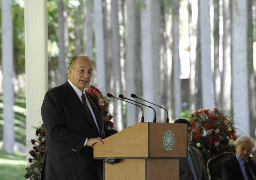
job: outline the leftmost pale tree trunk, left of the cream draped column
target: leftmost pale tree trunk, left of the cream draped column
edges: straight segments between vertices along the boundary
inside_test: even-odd
[[[3,66],[3,150],[8,154],[14,153],[14,89],[13,75],[13,26],[12,26],[12,1],[2,1],[2,66]]]

